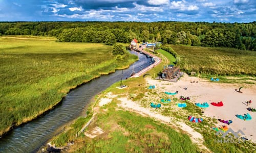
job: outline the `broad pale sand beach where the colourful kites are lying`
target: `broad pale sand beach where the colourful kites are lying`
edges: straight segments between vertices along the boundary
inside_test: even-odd
[[[190,83],[190,81],[195,81],[195,83]],[[198,83],[196,83],[198,81]],[[237,84],[224,84],[205,81],[196,77],[188,77],[184,75],[180,81],[177,83],[164,82],[158,80],[148,79],[147,82],[156,87],[165,87],[165,89],[157,88],[158,90],[175,92],[178,90],[177,97],[180,95],[189,96],[190,101],[195,101],[195,103],[207,102],[210,106],[205,109],[205,115],[224,120],[232,120],[233,123],[229,127],[237,132],[242,130],[248,139],[251,139],[254,143],[256,142],[256,133],[254,133],[254,126],[256,125],[256,112],[250,112],[246,108],[252,107],[256,108],[256,86],[255,85],[237,85]],[[166,84],[166,85],[163,85]],[[244,88],[241,89],[243,93],[235,91],[239,89],[240,86]],[[183,88],[187,87],[187,90]],[[245,105],[245,101],[252,100],[252,104],[249,106]],[[212,106],[211,102],[223,101],[224,106],[216,107]],[[191,102],[192,103],[192,102]],[[249,113],[252,117],[249,121],[244,121],[237,118],[236,114],[246,114]],[[219,125],[224,125],[224,123],[219,122]]]

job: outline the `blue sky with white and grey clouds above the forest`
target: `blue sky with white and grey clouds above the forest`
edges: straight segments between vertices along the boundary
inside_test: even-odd
[[[255,0],[0,0],[0,21],[252,22]]]

